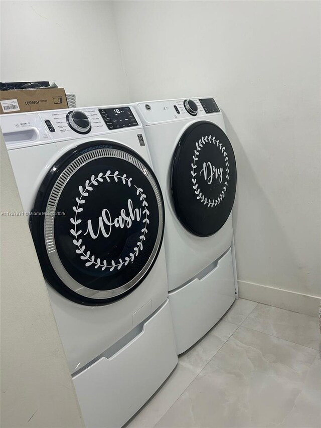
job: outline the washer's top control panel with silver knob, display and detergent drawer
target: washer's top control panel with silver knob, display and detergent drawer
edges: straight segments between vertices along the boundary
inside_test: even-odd
[[[8,150],[127,129],[136,132],[140,146],[144,146],[139,116],[133,107],[124,105],[0,114],[0,125]]]

